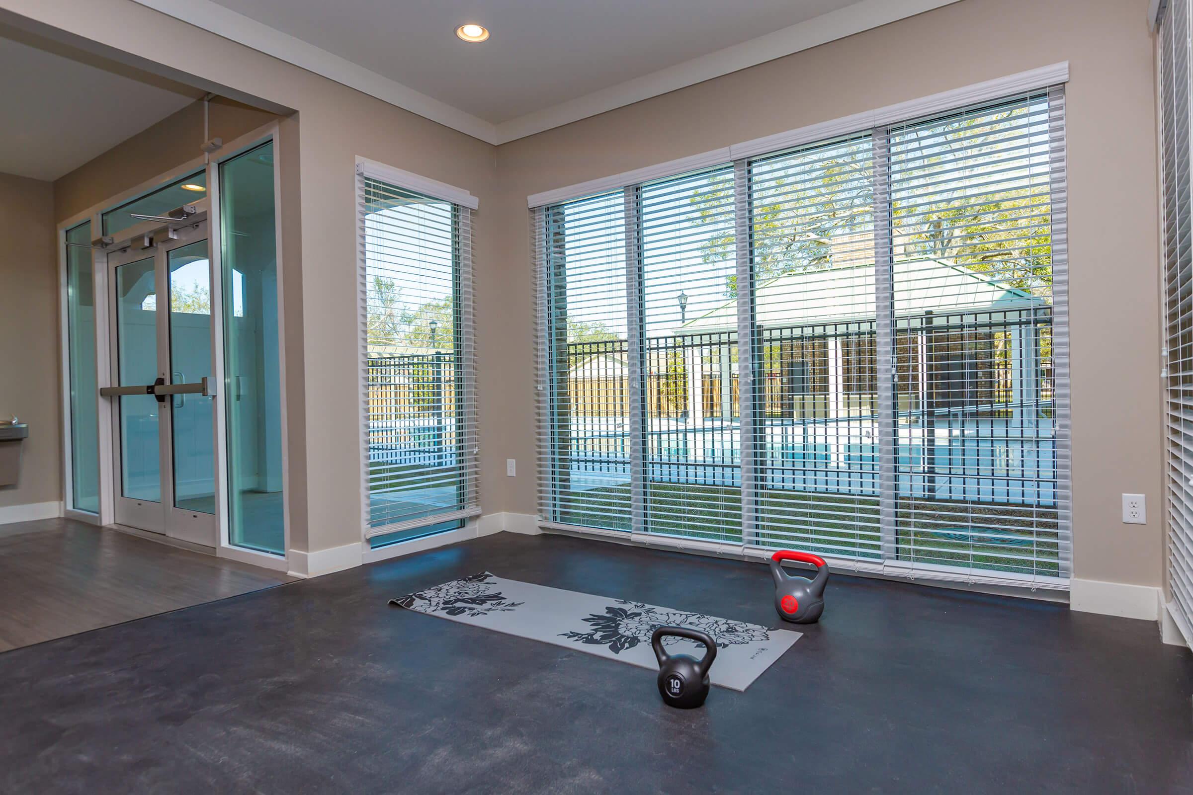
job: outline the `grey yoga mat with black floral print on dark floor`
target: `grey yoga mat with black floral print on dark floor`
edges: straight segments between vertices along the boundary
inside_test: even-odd
[[[659,670],[659,663],[650,648],[651,633],[663,625],[692,627],[707,633],[717,644],[717,659],[710,671],[712,683],[738,691],[748,688],[802,634],[521,583],[489,572],[435,585],[389,603],[653,671]],[[684,638],[668,638],[663,647],[669,654],[704,656],[704,646]]]

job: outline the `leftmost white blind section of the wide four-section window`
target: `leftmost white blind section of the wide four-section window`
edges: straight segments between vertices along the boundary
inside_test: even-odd
[[[539,497],[554,522],[629,530],[622,192],[537,211]]]

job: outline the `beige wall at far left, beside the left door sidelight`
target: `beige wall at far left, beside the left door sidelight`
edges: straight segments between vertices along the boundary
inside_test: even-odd
[[[0,417],[29,423],[20,482],[0,509],[62,498],[54,186],[0,174]]]

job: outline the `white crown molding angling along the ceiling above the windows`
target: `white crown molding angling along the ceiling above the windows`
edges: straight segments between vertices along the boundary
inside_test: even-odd
[[[860,0],[790,27],[701,55],[552,107],[493,124],[211,0],[134,0],[492,144],[667,94],[960,0]]]

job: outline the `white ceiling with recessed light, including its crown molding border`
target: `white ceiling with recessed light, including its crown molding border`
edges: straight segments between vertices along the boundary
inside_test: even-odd
[[[136,1],[503,143],[958,0]]]

